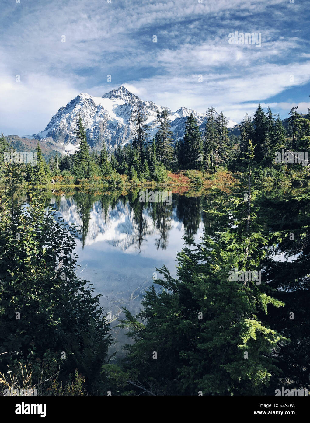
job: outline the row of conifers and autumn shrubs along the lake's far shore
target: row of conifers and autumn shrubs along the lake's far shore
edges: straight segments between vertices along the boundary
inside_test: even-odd
[[[72,155],[61,156],[56,152],[47,163],[40,145],[36,150],[36,165],[30,162],[21,166],[22,176],[30,186],[50,184],[106,184],[114,187],[155,181],[171,181],[171,173],[185,172],[189,180],[202,184],[212,178],[217,170],[229,172],[241,170],[241,157],[247,151],[248,140],[255,146],[255,172],[258,181],[266,184],[290,184],[305,181],[307,171],[299,164],[275,162],[276,152],[308,151],[310,147],[310,114],[301,115],[298,107],[289,113],[287,129],[280,115],[266,112],[258,106],[253,118],[245,115],[239,125],[240,135],[227,128],[228,120],[214,107],[206,112],[206,126],[200,132],[197,119],[189,115],[185,123],[184,137],[173,142],[167,110],[157,113],[157,132],[150,137],[147,116],[137,107],[135,110],[135,133],[132,143],[118,145],[108,154],[102,140],[101,151],[89,151],[86,131],[81,116],[77,121],[75,135],[80,141]],[[9,151],[5,137],[0,137],[0,153]],[[24,167],[25,166],[25,167]],[[0,165],[0,177],[3,163]]]

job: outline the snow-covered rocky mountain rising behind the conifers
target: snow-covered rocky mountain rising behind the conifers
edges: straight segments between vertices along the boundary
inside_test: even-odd
[[[124,86],[121,86],[105,93],[102,97],[80,93],[66,107],[60,107],[44,131],[39,132],[35,138],[48,142],[54,146],[55,150],[65,154],[73,153],[79,145],[74,131],[80,114],[91,148],[100,150],[104,139],[108,150],[111,150],[119,144],[124,145],[132,140],[135,129],[134,110],[137,109],[137,106],[142,107],[143,113],[148,117],[146,124],[151,127],[150,135],[157,131],[157,110],[168,111],[171,121],[170,130],[174,134],[174,140],[183,137],[184,124],[190,113],[194,114],[201,128],[204,127],[204,114],[185,107],[171,112],[168,107],[159,106],[151,101],[143,102]],[[229,121],[228,127],[235,125],[236,122]]]

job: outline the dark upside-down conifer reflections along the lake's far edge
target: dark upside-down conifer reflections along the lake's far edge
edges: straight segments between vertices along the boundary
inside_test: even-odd
[[[95,194],[77,191],[74,192],[73,201],[76,203],[77,213],[82,222],[80,225],[82,247],[85,246],[94,203],[99,204],[104,222],[107,222],[110,211],[117,206],[129,207],[133,226],[132,244],[136,245],[138,250],[152,233],[158,233],[155,239],[157,250],[159,248],[166,250],[173,220],[182,222],[184,235],[193,240],[201,222],[203,209],[202,197],[187,197],[180,194],[173,194],[172,202],[169,204],[166,201],[140,202],[138,192]],[[55,205],[61,209],[60,197],[55,197]]]

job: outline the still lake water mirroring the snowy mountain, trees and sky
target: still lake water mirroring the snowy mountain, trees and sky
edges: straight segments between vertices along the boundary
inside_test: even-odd
[[[203,232],[202,196],[197,194],[172,194],[170,205],[139,202],[138,192],[74,192],[53,195],[50,202],[66,223],[80,228],[77,276],[90,280],[95,293],[102,294],[100,304],[104,314],[112,312],[112,319],[123,317],[122,306],[137,313],[144,289],[154,283],[156,267],[165,264],[175,276],[183,236],[198,241]],[[112,333],[118,350],[128,341],[116,332],[118,328]]]

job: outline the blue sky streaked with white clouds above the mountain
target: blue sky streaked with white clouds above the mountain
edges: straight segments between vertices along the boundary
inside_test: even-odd
[[[0,131],[38,133],[78,93],[120,85],[237,122],[259,102],[307,113],[309,0],[198,1],[2,0]],[[261,33],[261,47],[229,44],[236,30]]]

